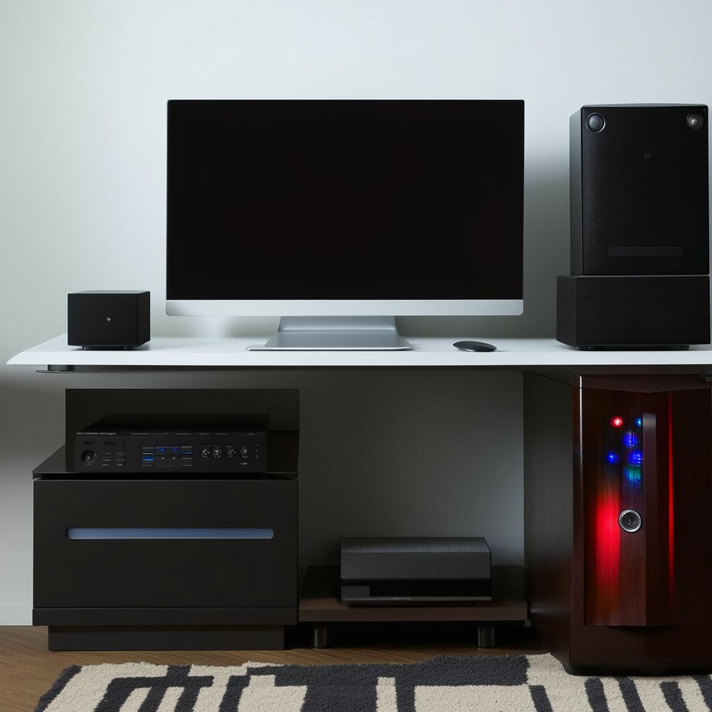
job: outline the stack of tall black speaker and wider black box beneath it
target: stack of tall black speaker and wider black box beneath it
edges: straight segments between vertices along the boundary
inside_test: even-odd
[[[571,277],[557,286],[558,340],[709,342],[708,172],[705,105],[595,105],[571,116]],[[641,281],[651,277],[659,281]]]

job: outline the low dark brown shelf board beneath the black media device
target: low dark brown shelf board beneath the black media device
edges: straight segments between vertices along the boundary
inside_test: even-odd
[[[523,598],[499,598],[451,606],[350,606],[339,597],[337,566],[310,566],[299,602],[300,623],[525,622]]]

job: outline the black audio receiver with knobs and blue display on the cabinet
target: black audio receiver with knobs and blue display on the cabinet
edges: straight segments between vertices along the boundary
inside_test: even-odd
[[[265,430],[241,422],[130,426],[104,419],[74,436],[75,472],[260,473],[266,469]]]

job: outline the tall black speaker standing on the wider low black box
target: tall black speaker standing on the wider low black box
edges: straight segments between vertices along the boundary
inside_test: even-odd
[[[583,106],[570,120],[571,273],[709,273],[708,110]]]

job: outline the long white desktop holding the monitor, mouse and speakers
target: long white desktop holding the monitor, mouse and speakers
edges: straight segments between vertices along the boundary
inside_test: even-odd
[[[460,337],[461,338],[461,337]],[[131,351],[84,351],[61,334],[26,349],[8,365],[76,367],[712,367],[712,347],[689,351],[579,351],[553,339],[488,339],[497,351],[460,351],[458,337],[408,337],[412,351],[246,351],[265,337],[154,337]],[[712,370],[712,368],[711,368]]]

